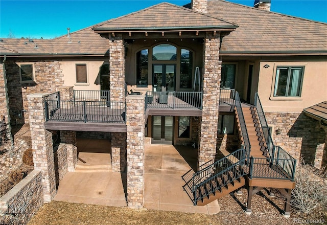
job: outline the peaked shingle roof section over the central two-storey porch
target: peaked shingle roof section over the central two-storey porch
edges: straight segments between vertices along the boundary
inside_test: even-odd
[[[205,29],[205,28],[237,28],[230,22],[212,16],[194,12],[190,9],[160,3],[149,8],[103,22],[94,30],[172,30],[172,29]]]

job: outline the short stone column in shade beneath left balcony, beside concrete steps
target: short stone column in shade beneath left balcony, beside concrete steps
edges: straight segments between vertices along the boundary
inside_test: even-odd
[[[60,142],[67,146],[67,166],[68,172],[74,172],[78,161],[76,131],[60,130]]]

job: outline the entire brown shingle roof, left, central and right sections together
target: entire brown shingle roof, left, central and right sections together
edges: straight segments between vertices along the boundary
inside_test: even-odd
[[[222,41],[221,54],[327,54],[327,24],[222,0],[208,1],[208,15],[168,3],[104,21],[101,29],[239,26]],[[221,18],[221,19],[217,19]],[[227,22],[229,21],[229,22]],[[0,55],[104,55],[109,40],[88,27],[55,39],[3,38]],[[25,44],[25,42],[28,42]],[[68,43],[69,42],[69,43]],[[35,48],[35,44],[37,48]]]

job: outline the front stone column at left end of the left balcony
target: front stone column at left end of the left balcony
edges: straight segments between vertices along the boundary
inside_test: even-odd
[[[43,199],[50,202],[56,195],[55,162],[52,133],[45,129],[45,97],[49,94],[27,96],[32,138],[34,169],[42,171]]]

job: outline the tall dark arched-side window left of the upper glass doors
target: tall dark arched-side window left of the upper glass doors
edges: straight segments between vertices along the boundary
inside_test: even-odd
[[[136,53],[136,86],[148,86],[149,50],[143,49]]]

